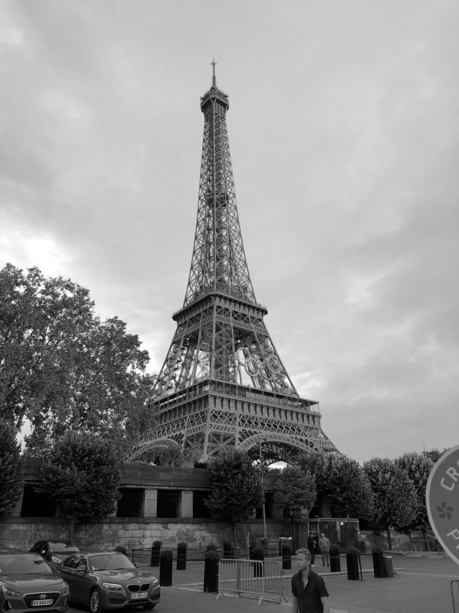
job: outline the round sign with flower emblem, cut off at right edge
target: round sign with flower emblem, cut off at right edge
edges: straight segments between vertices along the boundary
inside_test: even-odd
[[[436,538],[459,564],[459,445],[446,451],[432,468],[425,502]]]

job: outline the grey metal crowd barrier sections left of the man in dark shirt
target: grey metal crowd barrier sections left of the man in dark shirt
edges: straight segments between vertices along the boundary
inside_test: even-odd
[[[265,600],[280,603],[282,598],[282,568],[280,562],[260,562],[259,560],[229,560],[223,558],[218,565],[218,596],[225,592],[241,598],[259,598],[258,604]],[[274,598],[266,598],[272,594]]]

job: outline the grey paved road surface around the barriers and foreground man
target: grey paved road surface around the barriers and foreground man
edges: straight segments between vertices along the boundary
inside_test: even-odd
[[[392,579],[375,579],[371,557],[362,558],[363,581],[348,581],[345,572],[330,574],[321,565],[315,570],[323,574],[330,593],[332,613],[451,613],[451,579],[459,579],[459,568],[447,557],[395,556],[392,558],[395,576]],[[216,594],[203,592],[203,563],[187,564],[185,571],[174,569],[172,587],[162,588],[160,612],[231,613],[255,612],[256,600],[248,598],[218,598]],[[344,567],[344,568],[343,568]],[[150,568],[149,566],[146,568]],[[341,563],[345,571],[345,562]],[[152,569],[159,571],[159,569]],[[285,570],[283,594],[288,603],[266,602],[260,611],[283,613],[291,606],[290,576],[295,572]],[[159,574],[159,572],[158,572]],[[456,590],[456,609],[459,612],[459,592]],[[70,613],[88,613],[85,607],[70,607]],[[125,613],[140,613],[141,607],[124,609]]]

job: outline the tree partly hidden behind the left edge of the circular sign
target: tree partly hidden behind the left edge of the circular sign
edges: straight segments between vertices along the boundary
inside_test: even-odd
[[[417,511],[416,516],[410,524],[405,526],[406,531],[421,530],[424,536],[425,550],[427,551],[427,541],[425,538],[426,530],[430,530],[430,522],[427,513],[427,505],[425,503],[425,490],[430,471],[433,468],[433,462],[424,454],[419,454],[416,451],[411,453],[406,452],[397,459],[400,468],[403,468],[408,473],[414,489],[416,490]]]

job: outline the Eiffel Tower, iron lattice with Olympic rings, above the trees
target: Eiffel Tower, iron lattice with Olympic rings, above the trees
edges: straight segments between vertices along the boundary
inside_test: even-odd
[[[204,461],[222,447],[267,463],[299,452],[337,451],[320,424],[318,402],[301,398],[256,301],[237,215],[228,94],[212,85],[201,97],[203,153],[195,242],[177,329],[150,408],[157,426],[128,459],[178,447]]]

